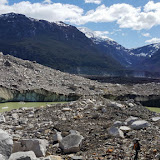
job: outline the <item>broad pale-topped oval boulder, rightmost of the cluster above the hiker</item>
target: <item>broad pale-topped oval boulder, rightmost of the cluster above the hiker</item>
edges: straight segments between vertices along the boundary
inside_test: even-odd
[[[131,129],[135,129],[135,130],[147,128],[149,126],[150,124],[145,120],[138,120],[138,121],[133,122],[130,125]]]

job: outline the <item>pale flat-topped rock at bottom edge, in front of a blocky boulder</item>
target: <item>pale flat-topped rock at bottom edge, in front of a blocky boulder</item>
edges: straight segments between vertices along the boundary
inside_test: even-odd
[[[9,160],[38,160],[33,151],[12,153]]]

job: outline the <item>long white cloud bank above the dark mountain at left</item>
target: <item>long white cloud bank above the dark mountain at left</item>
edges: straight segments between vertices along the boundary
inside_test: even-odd
[[[44,4],[22,1],[13,5],[0,5],[0,14],[15,12],[26,16],[53,21],[70,21],[78,19],[83,14],[83,9],[70,4]]]

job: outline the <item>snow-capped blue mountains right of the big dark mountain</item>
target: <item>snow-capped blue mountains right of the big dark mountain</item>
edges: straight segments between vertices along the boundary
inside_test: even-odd
[[[160,67],[160,63],[158,53],[160,50],[160,43],[127,49],[112,39],[97,35],[96,32],[89,30],[88,28],[80,27],[78,29],[92,40],[101,53],[113,57],[120,62],[121,65],[125,66],[126,69],[149,71],[153,74],[154,72],[159,72],[158,68]]]

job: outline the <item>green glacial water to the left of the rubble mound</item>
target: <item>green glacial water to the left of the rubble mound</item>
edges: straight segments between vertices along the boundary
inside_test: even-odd
[[[10,111],[22,107],[40,107],[47,104],[64,103],[64,102],[7,102],[0,103],[0,112]]]

